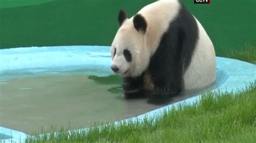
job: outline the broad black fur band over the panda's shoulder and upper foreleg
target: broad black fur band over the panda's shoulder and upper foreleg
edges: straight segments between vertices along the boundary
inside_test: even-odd
[[[150,73],[163,75],[181,87],[183,73],[190,65],[196,48],[198,33],[196,19],[180,4],[177,16],[170,20],[169,27],[161,35],[156,52],[151,57]]]

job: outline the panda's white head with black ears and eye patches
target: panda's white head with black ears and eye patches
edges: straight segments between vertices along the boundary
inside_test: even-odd
[[[120,10],[118,22],[120,27],[111,45],[111,69],[122,77],[139,76],[149,64],[146,20],[139,14],[127,19],[125,11]]]

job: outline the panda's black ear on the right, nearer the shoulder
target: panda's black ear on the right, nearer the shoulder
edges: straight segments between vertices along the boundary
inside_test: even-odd
[[[143,33],[146,32],[147,22],[142,15],[140,14],[135,15],[133,17],[133,24],[137,31],[142,31]]]

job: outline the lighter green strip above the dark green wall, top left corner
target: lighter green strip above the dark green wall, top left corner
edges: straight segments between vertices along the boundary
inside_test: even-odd
[[[44,4],[55,0],[1,0],[0,9],[15,8],[19,6]]]

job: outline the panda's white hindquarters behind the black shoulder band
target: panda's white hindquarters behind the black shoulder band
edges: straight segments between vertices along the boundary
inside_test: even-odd
[[[190,66],[188,66],[184,74],[184,88],[186,90],[203,88],[214,83],[216,78],[215,51],[212,41],[198,20],[197,25],[199,28],[199,40]]]

